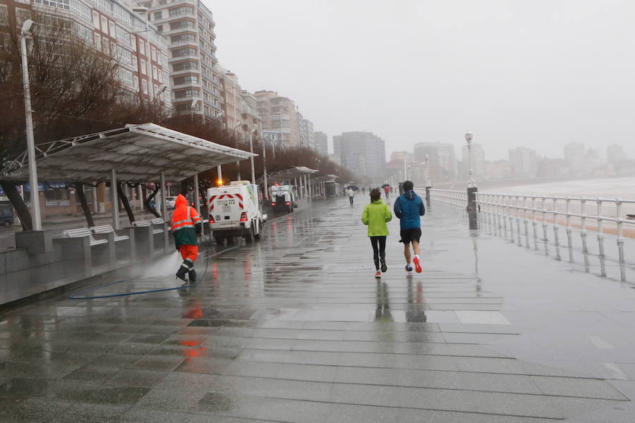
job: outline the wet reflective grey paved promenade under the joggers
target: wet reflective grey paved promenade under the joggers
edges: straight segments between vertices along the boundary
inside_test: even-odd
[[[214,247],[186,290],[4,314],[0,421],[634,421],[631,284],[443,207],[423,223],[423,274],[406,276],[395,219],[377,282],[361,200]],[[171,286],[165,267],[89,294]]]

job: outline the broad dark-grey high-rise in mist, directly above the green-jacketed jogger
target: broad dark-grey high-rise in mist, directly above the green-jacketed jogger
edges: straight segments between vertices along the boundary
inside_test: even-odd
[[[356,176],[381,183],[386,177],[385,141],[373,133],[349,132],[333,137],[335,154],[341,166]]]

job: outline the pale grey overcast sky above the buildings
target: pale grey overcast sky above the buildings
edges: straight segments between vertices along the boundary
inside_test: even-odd
[[[486,159],[571,140],[635,157],[635,1],[203,0],[244,90],[294,99],[315,130],[386,150],[472,130]]]

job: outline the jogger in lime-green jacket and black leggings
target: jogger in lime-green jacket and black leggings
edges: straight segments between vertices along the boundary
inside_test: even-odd
[[[375,261],[375,278],[381,278],[388,267],[386,266],[386,237],[388,226],[392,221],[392,213],[388,204],[382,201],[382,193],[375,188],[370,191],[370,204],[364,207],[362,223],[368,226],[370,245],[373,246],[373,260]]]

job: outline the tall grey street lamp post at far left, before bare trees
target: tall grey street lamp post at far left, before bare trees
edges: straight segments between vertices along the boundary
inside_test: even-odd
[[[35,22],[30,19],[24,21],[22,30],[20,31],[20,49],[22,49],[22,78],[24,84],[27,154],[29,159],[29,185],[31,186],[32,230],[42,231],[42,216],[40,216],[40,190],[39,185],[37,184],[37,166],[35,166],[35,136],[33,135],[31,87],[29,84],[29,63],[26,46],[26,39],[31,37],[33,25],[35,25]]]

